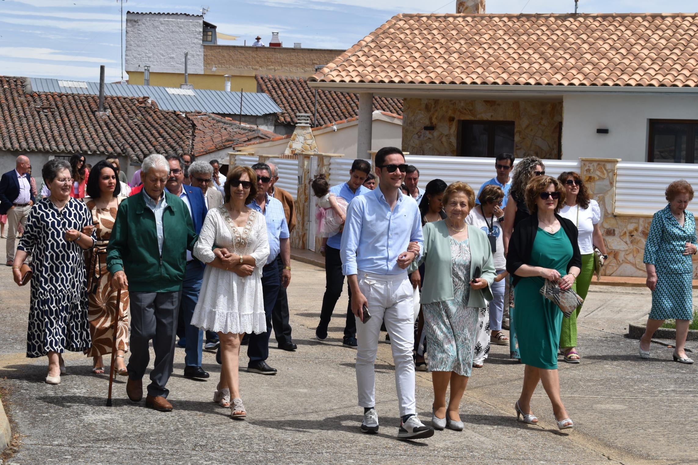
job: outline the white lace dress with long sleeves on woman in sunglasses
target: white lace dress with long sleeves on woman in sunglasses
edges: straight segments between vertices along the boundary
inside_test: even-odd
[[[224,205],[212,208],[194,245],[194,257],[204,263],[214,261],[213,247],[251,255],[255,259],[255,270],[242,277],[232,271],[207,266],[191,324],[221,333],[264,333],[267,319],[261,278],[262,266],[269,256],[264,216],[251,211],[245,226],[236,227]]]

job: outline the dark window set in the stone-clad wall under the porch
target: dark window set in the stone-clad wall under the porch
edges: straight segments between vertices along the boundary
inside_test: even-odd
[[[459,121],[458,140],[461,157],[514,153],[514,121]]]

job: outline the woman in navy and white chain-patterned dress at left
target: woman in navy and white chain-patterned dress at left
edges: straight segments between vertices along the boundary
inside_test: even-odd
[[[83,250],[93,247],[95,239],[94,232],[82,233],[92,225],[92,217],[82,201],[70,197],[70,165],[51,160],[41,174],[51,194],[31,208],[12,271],[20,284],[19,268],[31,254],[27,357],[47,356],[45,381],[58,384],[65,373],[61,353],[91,346]]]

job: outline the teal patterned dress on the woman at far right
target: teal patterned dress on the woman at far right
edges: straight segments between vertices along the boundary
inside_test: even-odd
[[[693,213],[685,212],[683,227],[671,214],[669,205],[654,214],[643,258],[646,264],[653,264],[657,270],[650,319],[693,318],[693,264],[691,256],[683,254],[687,242],[696,244]]]

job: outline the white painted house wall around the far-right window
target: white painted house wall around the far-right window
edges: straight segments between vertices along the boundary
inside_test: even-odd
[[[646,162],[650,119],[698,120],[698,94],[565,96],[563,160],[591,157]],[[597,128],[607,128],[609,134],[597,134]]]

